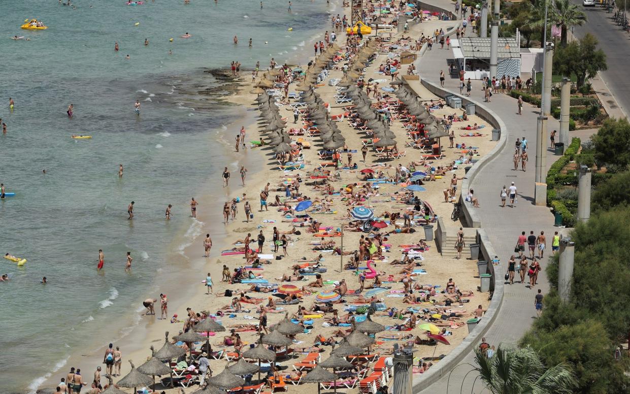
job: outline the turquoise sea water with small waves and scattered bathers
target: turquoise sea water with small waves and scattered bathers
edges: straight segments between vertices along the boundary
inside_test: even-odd
[[[77,0],[76,9],[57,0],[3,4],[0,117],[8,134],[0,136],[0,182],[17,196],[0,202],[0,252],[28,263],[0,261],[0,272],[13,274],[0,283],[1,392],[35,390],[71,354],[119,337],[137,322],[138,300],[160,275],[186,269],[179,252],[202,229],[187,203],[223,166],[237,173],[218,142],[232,141],[236,130],[226,125],[243,113],[197,93],[217,86],[203,69],[232,60],[266,66],[270,57],[296,62],[328,27],[327,12],[341,11],[304,0],[294,1],[289,14],[286,3],[265,0],[263,9],[258,0],[139,6]],[[26,18],[49,29],[21,30]],[[186,32],[193,37],[179,38]],[[14,35],[30,40],[10,40]],[[135,100],[142,103],[140,117]],[[122,180],[118,163],[125,166]],[[131,200],[132,223],[125,212]],[[174,217],[165,223],[169,203]],[[99,248],[104,274],[95,270]],[[123,272],[127,251],[134,257],[131,275]]]

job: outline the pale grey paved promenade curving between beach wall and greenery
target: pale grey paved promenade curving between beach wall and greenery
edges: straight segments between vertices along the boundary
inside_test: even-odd
[[[452,5],[448,1],[435,0],[428,3],[442,4],[445,9],[451,9]],[[468,28],[467,30],[470,30]],[[448,77],[447,59],[452,59],[452,50],[440,50],[439,45],[433,45],[433,50],[427,51],[421,57],[416,65],[420,72],[421,78],[432,83],[439,84],[440,70],[445,70],[447,80],[445,88],[459,93],[458,79],[450,79]],[[533,230],[538,235],[540,231],[544,231],[547,235],[546,257],[542,260],[543,268],[547,265],[547,253],[551,252],[551,236],[558,228],[553,227],[554,217],[549,212],[549,208],[534,205],[534,174],[536,163],[536,118],[538,116],[538,108],[532,107],[525,103],[523,115],[517,115],[517,102],[514,98],[507,95],[496,94],[491,98],[490,103],[483,103],[483,91],[481,91],[481,81],[473,82],[473,91],[471,99],[486,105],[493,110],[507,125],[507,144],[500,154],[493,159],[479,173],[471,188],[475,190],[478,196],[479,213],[482,218],[482,227],[488,233],[490,241],[494,246],[501,265],[495,269],[498,275],[505,274],[507,270],[507,262],[510,255],[513,255],[514,246],[518,235],[521,231]],[[558,120],[551,118],[549,120],[548,129],[559,129]],[[490,130],[484,130],[484,134],[490,134]],[[457,135],[457,132],[455,132]],[[530,161],[527,165],[527,171],[513,171],[512,154],[514,142],[517,137],[527,138],[529,141]],[[548,138],[547,138],[548,139]],[[457,141],[457,137],[455,138]],[[549,146],[547,141],[547,146]],[[551,150],[547,150],[547,168],[555,161],[558,156],[553,156]],[[518,188],[518,201],[514,208],[500,206],[500,190],[503,185],[510,185],[514,182]],[[561,230],[562,232],[562,230]],[[566,231],[565,231],[566,232]],[[518,275],[517,275],[518,277]],[[527,281],[527,277],[525,277]],[[512,286],[505,286],[505,296],[498,317],[495,323],[486,333],[486,340],[491,345],[511,345],[518,342],[525,331],[532,324],[536,311],[534,310],[534,294],[537,289],[542,289],[543,294],[547,293],[549,286],[544,272],[539,275],[539,286],[534,289],[529,288],[529,284],[515,283]],[[474,302],[474,299],[472,300]],[[474,364],[474,354],[469,353],[462,363],[469,362]],[[459,366],[454,369],[450,376],[450,387],[447,387],[447,376],[442,380],[421,391],[421,393],[455,393],[460,390],[462,381],[464,381],[464,391],[471,390],[476,374],[471,373],[465,376],[471,370],[470,366]],[[483,386],[479,383],[474,385],[474,391],[471,393],[480,393]]]

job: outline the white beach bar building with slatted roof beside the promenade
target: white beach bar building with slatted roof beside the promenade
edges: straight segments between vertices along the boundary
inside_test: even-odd
[[[490,37],[464,37],[451,40],[453,57],[464,78],[490,76]],[[499,37],[496,75],[520,76],[520,49],[517,38]]]

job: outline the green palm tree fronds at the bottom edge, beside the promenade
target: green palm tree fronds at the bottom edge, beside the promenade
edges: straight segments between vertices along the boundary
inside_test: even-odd
[[[476,370],[493,394],[571,394],[577,386],[573,371],[558,364],[547,368],[531,347],[501,349],[486,357],[476,349]]]

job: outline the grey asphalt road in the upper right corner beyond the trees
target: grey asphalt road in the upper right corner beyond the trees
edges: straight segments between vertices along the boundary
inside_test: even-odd
[[[617,0],[617,3],[619,1]],[[573,3],[583,8],[588,16],[585,25],[575,26],[574,34],[578,38],[586,33],[597,37],[608,64],[607,71],[600,72],[600,75],[619,103],[619,107],[624,113],[630,113],[630,73],[626,68],[630,65],[630,35],[612,20],[613,13],[609,14],[599,6],[583,7],[581,0],[573,0]]]

